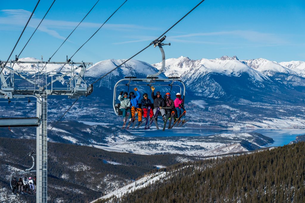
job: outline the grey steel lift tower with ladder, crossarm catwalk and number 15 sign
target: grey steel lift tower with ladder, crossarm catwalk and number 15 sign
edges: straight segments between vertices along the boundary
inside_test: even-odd
[[[0,118],[0,127],[36,127],[36,202],[47,202],[47,99],[48,96],[68,96],[78,99],[93,91],[87,85],[84,72],[92,63],[41,61],[0,61],[0,98],[11,102],[18,98],[34,98],[36,117]],[[13,68],[15,66],[15,68]],[[14,70],[16,69],[16,70]],[[22,70],[21,70],[22,69]]]

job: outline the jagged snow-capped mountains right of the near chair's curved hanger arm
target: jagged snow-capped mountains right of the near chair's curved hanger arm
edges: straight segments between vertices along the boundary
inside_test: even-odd
[[[152,64],[157,69],[161,65]],[[303,99],[305,89],[303,66],[302,61],[277,63],[262,58],[239,60],[236,56],[191,60],[181,56],[167,59],[164,73],[181,77],[189,90],[205,98],[297,102]],[[290,99],[296,97],[296,100]]]

